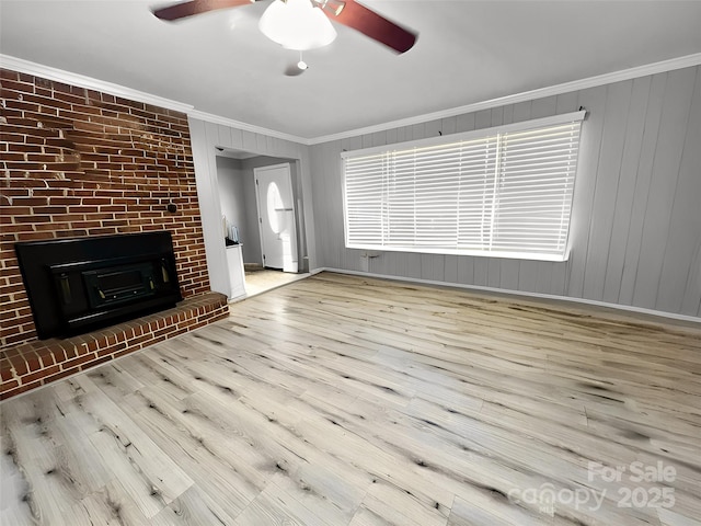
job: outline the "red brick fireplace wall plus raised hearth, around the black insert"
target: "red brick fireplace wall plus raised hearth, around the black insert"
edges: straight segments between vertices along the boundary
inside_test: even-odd
[[[0,396],[228,316],[211,293],[185,114],[0,69]],[[183,301],[38,340],[14,243],[166,230]]]

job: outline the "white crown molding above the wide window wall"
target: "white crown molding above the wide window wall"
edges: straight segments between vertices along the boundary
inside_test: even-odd
[[[439,118],[455,117],[457,115],[479,112],[481,110],[491,110],[492,107],[504,106],[506,104],[516,104],[518,102],[532,101],[535,99],[542,99],[544,96],[560,95],[562,93],[567,93],[571,91],[596,88],[598,85],[611,84],[613,82],[636,79],[639,77],[646,77],[648,75],[674,71],[675,69],[682,69],[682,68],[688,68],[688,67],[693,67],[699,65],[701,65],[701,53],[697,53],[693,55],[686,55],[683,57],[671,58],[669,60],[662,60],[659,62],[648,64],[645,66],[637,66],[635,68],[623,69],[621,71],[599,75],[596,77],[588,77],[586,79],[564,82],[562,84],[551,85],[548,88],[539,88],[537,90],[525,91],[525,92],[516,93],[513,95],[501,96],[498,99],[491,99],[489,101],[467,104],[464,106],[458,106],[449,110],[441,110],[439,112],[426,113],[424,115],[416,115],[413,117],[401,118],[399,121],[382,123],[375,126],[366,126],[364,128],[349,129],[347,132],[341,132],[338,134],[314,137],[312,139],[307,139],[307,144],[309,146],[319,145],[321,142],[330,142],[333,140],[347,139],[350,137],[357,137],[359,135],[375,134],[377,132],[387,132],[388,129],[400,128],[402,126],[412,126],[414,124],[427,123],[430,121],[437,121]]]

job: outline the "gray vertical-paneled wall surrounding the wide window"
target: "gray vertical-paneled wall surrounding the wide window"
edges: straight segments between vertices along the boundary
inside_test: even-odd
[[[319,267],[701,315],[701,67],[311,147]],[[342,150],[486,128],[584,106],[563,263],[344,248]]]

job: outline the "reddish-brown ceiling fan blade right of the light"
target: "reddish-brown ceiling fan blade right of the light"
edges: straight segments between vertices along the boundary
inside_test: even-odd
[[[324,9],[324,13],[331,20],[359,31],[374,41],[394,49],[397,53],[410,50],[416,42],[416,33],[397,25],[355,0],[345,0],[345,7],[340,13],[333,9]]]

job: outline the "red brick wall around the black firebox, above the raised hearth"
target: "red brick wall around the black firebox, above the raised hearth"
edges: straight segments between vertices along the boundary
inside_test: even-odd
[[[183,297],[208,291],[186,115],[4,69],[0,82],[0,348],[36,340],[16,241],[170,230]]]

